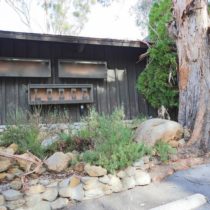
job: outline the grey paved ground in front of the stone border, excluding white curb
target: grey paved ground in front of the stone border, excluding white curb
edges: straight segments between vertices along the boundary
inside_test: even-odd
[[[194,193],[201,193],[210,200],[210,164],[177,172],[162,183],[135,187],[122,193],[84,201],[68,209],[148,210]],[[210,204],[207,203],[197,210],[210,210]]]

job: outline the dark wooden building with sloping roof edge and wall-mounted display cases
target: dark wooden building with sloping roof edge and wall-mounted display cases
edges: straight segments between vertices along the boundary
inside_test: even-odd
[[[72,121],[83,110],[126,117],[152,110],[136,90],[147,50],[140,41],[0,31],[0,124],[16,109],[65,109]]]

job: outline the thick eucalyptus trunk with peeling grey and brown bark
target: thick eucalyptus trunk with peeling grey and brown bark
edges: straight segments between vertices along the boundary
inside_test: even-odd
[[[173,0],[173,17],[169,29],[173,27],[178,50],[178,119],[192,130],[188,144],[199,143],[207,149],[210,142],[208,1]]]

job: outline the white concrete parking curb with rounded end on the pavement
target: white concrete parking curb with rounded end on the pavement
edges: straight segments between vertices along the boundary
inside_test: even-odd
[[[207,199],[202,194],[194,194],[186,198],[173,201],[171,203],[164,204],[159,207],[152,208],[150,210],[192,210],[204,205],[207,202]]]

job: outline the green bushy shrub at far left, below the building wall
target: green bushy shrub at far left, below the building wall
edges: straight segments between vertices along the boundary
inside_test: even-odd
[[[43,158],[44,151],[38,140],[39,131],[31,125],[8,126],[4,133],[0,136],[0,145],[9,146],[12,143],[18,145],[18,152],[25,153],[27,151]]]

